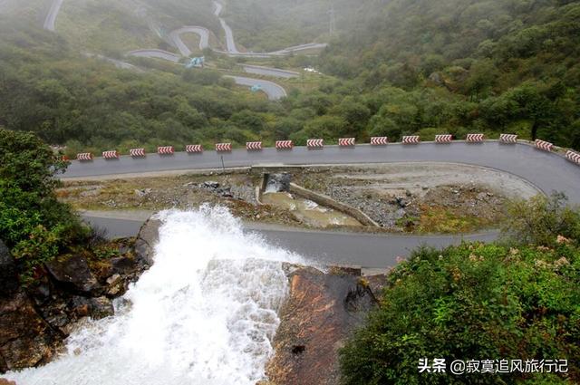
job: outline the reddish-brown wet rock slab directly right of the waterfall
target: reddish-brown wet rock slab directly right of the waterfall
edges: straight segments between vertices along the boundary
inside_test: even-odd
[[[360,270],[287,269],[290,294],[266,374],[276,385],[339,382],[338,350],[376,303]]]

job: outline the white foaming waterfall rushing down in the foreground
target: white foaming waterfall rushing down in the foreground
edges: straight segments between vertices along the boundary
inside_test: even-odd
[[[160,214],[155,264],[117,313],[88,322],[18,385],[254,385],[264,377],[297,255],[242,233],[223,207]]]

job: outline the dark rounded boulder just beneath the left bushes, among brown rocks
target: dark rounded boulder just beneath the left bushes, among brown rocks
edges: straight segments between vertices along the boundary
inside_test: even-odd
[[[65,288],[90,293],[100,287],[86,259],[80,255],[59,257],[44,265],[53,280]]]

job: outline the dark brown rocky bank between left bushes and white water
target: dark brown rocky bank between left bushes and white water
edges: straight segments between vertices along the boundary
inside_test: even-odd
[[[117,241],[119,253],[112,258],[62,255],[25,289],[0,241],[0,373],[52,360],[77,322],[111,316],[112,300],[152,264],[157,231],[150,228],[157,226],[148,221],[136,240]]]

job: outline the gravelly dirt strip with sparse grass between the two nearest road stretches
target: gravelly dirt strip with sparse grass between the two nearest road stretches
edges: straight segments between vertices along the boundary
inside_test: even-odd
[[[508,199],[539,193],[527,181],[498,170],[447,163],[303,168],[293,170],[292,179],[362,210],[385,231],[415,233],[461,233],[498,226]],[[88,210],[155,211],[209,203],[225,205],[247,221],[322,226],[304,220],[295,212],[296,205],[259,205],[256,187],[261,182],[259,175],[249,172],[208,172],[67,181],[58,194],[74,207]],[[305,206],[324,211],[324,207]]]

